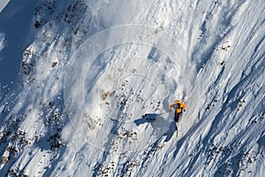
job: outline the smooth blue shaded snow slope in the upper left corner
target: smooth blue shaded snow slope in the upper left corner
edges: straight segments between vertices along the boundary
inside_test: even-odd
[[[5,4],[6,3],[6,4]],[[17,80],[23,52],[33,42],[33,21],[35,3],[31,1],[1,1],[0,16],[0,87],[2,94],[18,87]],[[0,5],[1,6],[1,5]],[[2,49],[1,46],[4,45]]]

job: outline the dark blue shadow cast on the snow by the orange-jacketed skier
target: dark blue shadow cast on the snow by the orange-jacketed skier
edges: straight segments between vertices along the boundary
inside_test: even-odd
[[[169,142],[171,137],[174,135],[176,130],[175,121],[165,120],[161,114],[146,113],[140,119],[135,119],[134,123],[136,126],[141,124],[150,124],[154,129],[159,129],[158,135],[166,135],[165,142]]]

